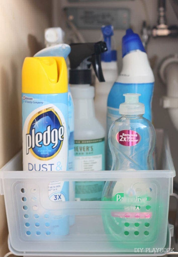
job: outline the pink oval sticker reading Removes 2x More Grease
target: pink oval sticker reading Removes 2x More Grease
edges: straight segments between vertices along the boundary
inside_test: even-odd
[[[121,130],[116,134],[118,143],[125,146],[134,146],[141,140],[141,136],[134,130]]]

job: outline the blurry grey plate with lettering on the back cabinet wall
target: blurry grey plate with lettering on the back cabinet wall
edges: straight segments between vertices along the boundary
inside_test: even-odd
[[[102,25],[112,24],[114,29],[130,27],[129,8],[66,8],[67,16],[79,29],[100,29]]]

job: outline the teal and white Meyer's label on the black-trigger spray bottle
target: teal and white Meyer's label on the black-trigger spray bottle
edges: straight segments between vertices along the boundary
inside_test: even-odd
[[[75,170],[97,171],[105,169],[104,138],[75,140]],[[75,200],[101,200],[104,181],[76,181]]]

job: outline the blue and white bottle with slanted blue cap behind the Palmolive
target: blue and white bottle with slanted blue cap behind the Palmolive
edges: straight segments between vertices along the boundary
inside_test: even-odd
[[[107,100],[107,135],[111,124],[120,117],[119,105],[124,102],[123,94],[139,93],[140,102],[145,105],[143,117],[151,121],[151,103],[154,90],[154,75],[138,34],[126,30],[122,39],[123,67]],[[107,142],[106,169],[112,168],[112,154]]]

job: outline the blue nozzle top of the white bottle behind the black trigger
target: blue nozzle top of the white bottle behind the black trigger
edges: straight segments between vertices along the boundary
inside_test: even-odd
[[[117,60],[117,51],[111,49],[111,37],[114,35],[114,29],[112,25],[103,25],[101,27],[104,41],[107,45],[107,52],[101,54],[101,61],[111,62]]]

